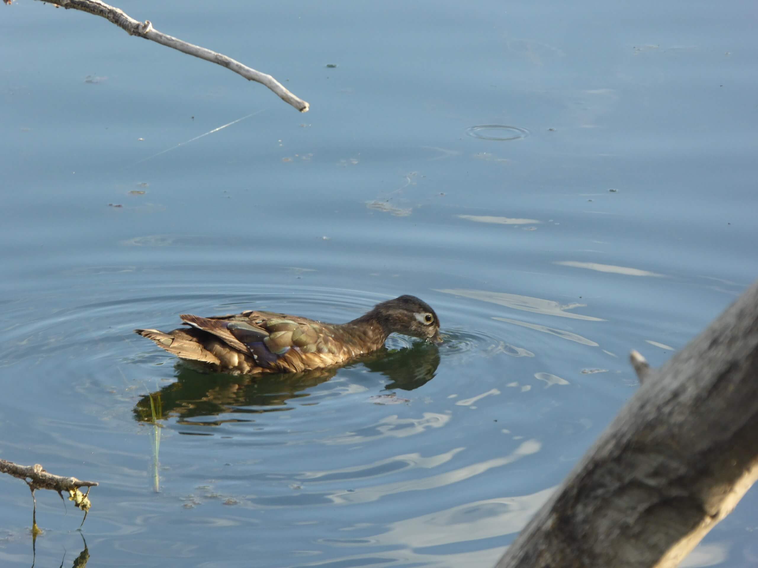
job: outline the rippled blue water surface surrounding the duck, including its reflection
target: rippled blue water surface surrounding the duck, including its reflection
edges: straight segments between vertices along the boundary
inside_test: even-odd
[[[36,566],[82,537],[90,566],[490,566],[634,393],[628,351],[662,364],[758,274],[749,2],[120,8],[311,110],[2,7],[0,457],[100,482],[81,533],[38,492]],[[446,342],[331,373],[205,375],[131,332],[406,293]],[[758,562],[756,504],[684,565]]]

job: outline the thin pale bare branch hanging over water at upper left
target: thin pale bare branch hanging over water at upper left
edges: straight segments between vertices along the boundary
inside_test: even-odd
[[[41,2],[49,2],[49,0],[40,0]],[[116,24],[130,36],[137,36],[144,39],[150,39],[153,42],[160,43],[166,47],[174,48],[187,55],[194,55],[196,58],[205,59],[211,63],[219,64],[222,67],[227,67],[245,77],[249,81],[255,81],[268,87],[275,92],[279,98],[285,101],[287,104],[292,105],[300,112],[307,112],[309,104],[302,100],[302,98],[296,97],[290,91],[284,88],[271,75],[261,73],[255,69],[251,69],[246,65],[241,64],[239,61],[235,61],[232,58],[228,58],[226,55],[221,55],[210,49],[202,48],[199,45],[193,45],[191,43],[183,42],[181,39],[177,39],[173,36],[168,36],[165,33],[161,33],[152,27],[150,20],[146,20],[144,23],[135,20],[133,17],[125,14],[124,11],[114,8],[111,5],[100,2],[100,0],[55,0],[49,2],[62,8],[73,8],[74,10],[81,10],[88,12],[89,14],[95,14],[96,16],[104,17],[111,23]]]

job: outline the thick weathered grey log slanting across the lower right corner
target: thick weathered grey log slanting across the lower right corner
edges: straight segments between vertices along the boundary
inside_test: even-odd
[[[636,360],[635,360],[636,359]],[[677,566],[758,477],[758,281],[643,384],[496,568]]]

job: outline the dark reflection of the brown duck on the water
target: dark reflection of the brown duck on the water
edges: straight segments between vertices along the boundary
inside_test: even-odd
[[[208,373],[187,363],[177,363],[177,382],[141,398],[133,409],[135,420],[152,422],[150,397],[160,401],[158,419],[178,417],[183,423],[192,417],[206,417],[203,424],[218,425],[227,422],[246,422],[244,417],[212,420],[218,414],[258,414],[287,410],[287,401],[309,396],[308,389],[335,376],[340,369],[362,365],[371,373],[387,377],[384,389],[412,391],[434,378],[440,364],[437,345],[415,342],[409,348],[387,349],[356,360],[346,367],[332,367],[264,376],[232,376],[225,373]],[[305,401],[303,401],[305,402]],[[192,422],[198,424],[197,421]]]

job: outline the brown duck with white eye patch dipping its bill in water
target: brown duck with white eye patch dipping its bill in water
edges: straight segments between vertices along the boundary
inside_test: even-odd
[[[429,304],[409,295],[383,301],[348,323],[321,323],[253,310],[227,316],[179,317],[188,328],[168,333],[134,331],[180,359],[235,375],[299,373],[343,364],[381,348],[393,332],[442,342],[437,314]]]

